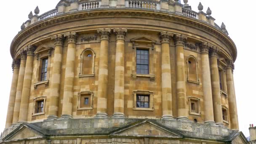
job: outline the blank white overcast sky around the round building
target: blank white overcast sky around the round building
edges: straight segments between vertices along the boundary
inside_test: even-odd
[[[181,0],[182,2],[183,0]],[[0,132],[5,128],[6,113],[8,107],[9,93],[11,88],[12,58],[10,45],[13,37],[19,32],[20,26],[27,21],[30,11],[34,12],[38,5],[40,14],[56,7],[59,0],[3,0],[1,3],[0,23]],[[256,48],[255,42],[255,0],[189,0],[193,11],[198,11],[197,6],[201,2],[206,12],[210,7],[216,23],[226,24],[229,36],[237,46],[237,60],[235,61],[235,90],[237,97],[237,109],[240,131],[249,136],[248,127],[250,123],[256,125]]]

